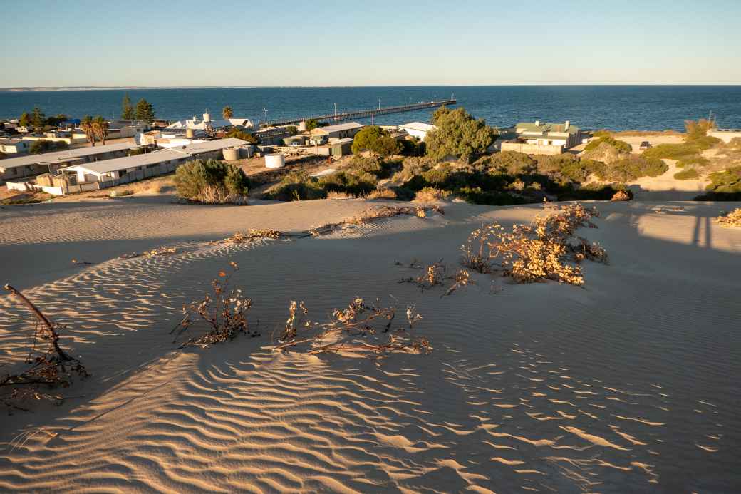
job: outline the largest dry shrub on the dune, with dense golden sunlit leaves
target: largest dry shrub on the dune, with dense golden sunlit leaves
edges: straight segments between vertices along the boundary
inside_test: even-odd
[[[582,285],[584,277],[579,266],[582,260],[607,263],[607,253],[599,244],[582,237],[576,244],[569,242],[577,228],[597,228],[591,218],[599,217],[599,212],[585,209],[581,204],[559,209],[546,207],[553,212],[536,217],[529,225],[514,225],[512,231],[505,231],[499,223],[473,231],[468,244],[461,248],[462,264],[480,272],[491,272],[494,266],[500,266],[502,274],[517,283],[555,280]]]

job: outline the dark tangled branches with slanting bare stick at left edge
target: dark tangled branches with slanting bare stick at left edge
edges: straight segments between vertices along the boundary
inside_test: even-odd
[[[62,401],[62,396],[52,395],[41,391],[42,386],[48,389],[56,387],[69,387],[73,382],[73,376],[87,378],[89,374],[79,360],[69,355],[59,346],[59,329],[64,326],[54,323],[46,317],[36,306],[28,300],[24,294],[6,284],[8,292],[15,295],[36,317],[36,328],[33,331],[33,349],[30,351],[25,363],[29,366],[17,374],[7,374],[0,378],[0,389],[8,389],[0,395],[0,399],[7,406],[22,409],[13,404],[14,401],[26,399],[47,399]],[[36,352],[36,342],[42,340],[48,343],[45,352]]]

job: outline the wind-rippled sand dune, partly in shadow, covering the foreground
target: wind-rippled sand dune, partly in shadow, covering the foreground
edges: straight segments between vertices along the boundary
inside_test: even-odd
[[[0,490],[68,492],[730,492],[741,484],[738,204],[599,203],[611,265],[585,287],[477,284],[439,297],[396,283],[451,267],[471,229],[539,206],[446,206],[329,237],[207,246],[305,229],[368,202],[247,207],[157,198],[0,209],[2,281],[70,329],[93,377],[62,406],[3,415]],[[172,257],[116,260],[162,245]],[[73,266],[72,258],[93,266]],[[178,351],[168,335],[230,260],[261,338]],[[492,286],[502,286],[499,293]],[[431,355],[270,352],[288,301],[314,318],[356,295],[416,304]],[[0,296],[0,362],[27,348]]]

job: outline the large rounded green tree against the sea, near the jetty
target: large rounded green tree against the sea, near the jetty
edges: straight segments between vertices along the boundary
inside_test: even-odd
[[[432,123],[437,128],[428,132],[425,144],[428,156],[435,159],[453,156],[470,162],[496,140],[496,131],[484,119],[473,119],[464,108],[451,111],[442,106],[433,114]]]

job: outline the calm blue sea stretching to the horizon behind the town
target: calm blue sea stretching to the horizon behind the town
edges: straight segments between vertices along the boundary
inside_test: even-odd
[[[419,86],[373,88],[202,88],[10,92],[0,90],[0,118],[16,118],[39,105],[47,115],[65,113],[118,117],[124,92],[133,102],[146,98],[162,119],[182,119],[210,110],[219,115],[231,105],[234,116],[255,121],[445,99],[455,93],[459,105],[489,125],[518,121],[562,122],[582,128],[681,130],[685,119],[712,111],[720,127],[741,128],[741,86]],[[380,124],[428,121],[432,111],[398,113]]]

